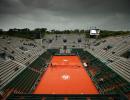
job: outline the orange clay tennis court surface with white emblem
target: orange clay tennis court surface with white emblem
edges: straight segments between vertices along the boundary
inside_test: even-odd
[[[34,94],[98,94],[78,56],[53,56]]]

